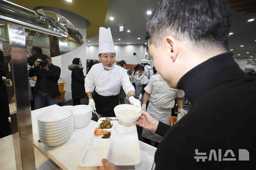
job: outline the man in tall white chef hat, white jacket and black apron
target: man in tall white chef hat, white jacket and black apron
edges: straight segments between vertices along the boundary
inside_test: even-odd
[[[98,58],[101,63],[94,64],[85,78],[88,105],[101,117],[115,117],[114,107],[119,104],[118,94],[122,86],[130,104],[140,108],[141,103],[135,99],[135,90],[130,83],[127,70],[115,63],[116,53],[110,28],[100,27]],[[94,89],[96,93],[92,97]]]

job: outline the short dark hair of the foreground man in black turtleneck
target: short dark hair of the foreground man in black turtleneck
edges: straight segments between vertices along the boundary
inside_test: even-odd
[[[146,23],[146,37],[158,47],[166,35],[193,47],[227,49],[231,12],[226,0],[160,0]]]

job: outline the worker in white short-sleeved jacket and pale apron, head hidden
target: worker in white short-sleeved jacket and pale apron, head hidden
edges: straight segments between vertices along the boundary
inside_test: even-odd
[[[153,75],[149,79],[148,85],[144,88],[145,94],[143,96],[142,110],[148,112],[153,118],[159,120],[167,125],[171,123],[171,110],[175,104],[175,97],[179,112],[184,115],[187,112],[183,109],[183,90],[170,88],[166,81],[160,74]],[[146,103],[149,102],[148,109],[146,110]],[[155,134],[153,130],[146,130],[143,128],[142,136],[144,138],[160,142],[162,137]],[[149,143],[150,144],[150,143]]]

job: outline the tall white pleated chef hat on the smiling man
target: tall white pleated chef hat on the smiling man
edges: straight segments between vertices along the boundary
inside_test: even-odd
[[[110,28],[100,27],[99,31],[99,54],[105,52],[115,52],[114,43]]]

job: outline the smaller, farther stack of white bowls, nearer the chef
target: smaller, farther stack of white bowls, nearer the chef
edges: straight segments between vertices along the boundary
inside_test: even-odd
[[[88,105],[76,105],[70,108],[74,114],[74,128],[87,126],[92,118],[92,108]]]

